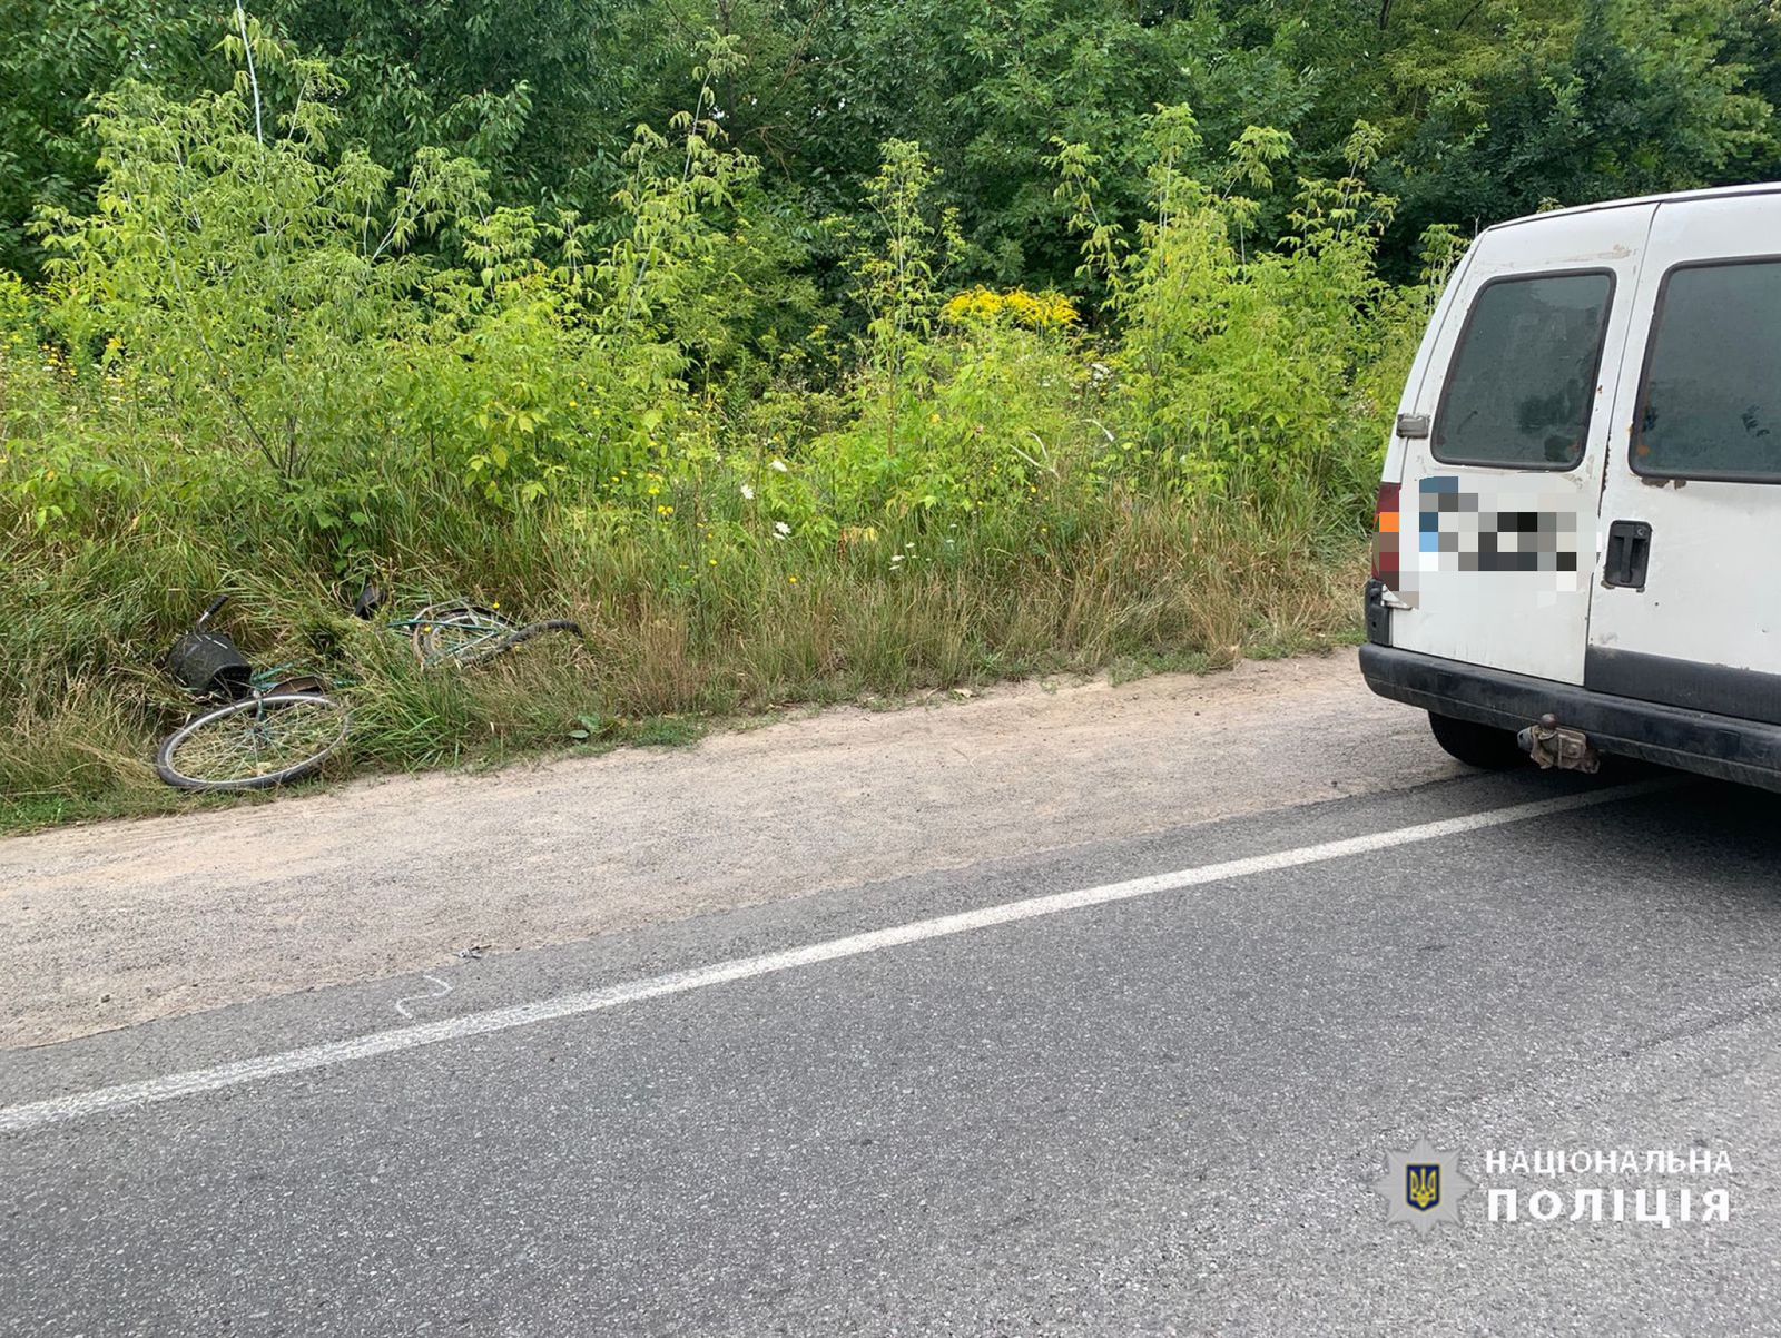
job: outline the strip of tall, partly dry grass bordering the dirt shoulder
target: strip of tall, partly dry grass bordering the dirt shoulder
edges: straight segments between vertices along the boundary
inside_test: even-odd
[[[351,682],[337,777],[1120,661],[1216,666],[1354,627],[1359,545],[1313,508],[1113,492],[1037,538],[947,545],[887,526],[846,551],[768,545],[718,567],[682,529],[614,542],[572,510],[524,526],[456,513],[376,574],[394,609],[463,595],[584,627],[465,670],[420,668],[406,638],[353,616],[354,583],[315,575],[272,534],[240,547],[141,515],[73,545],[14,529],[0,543],[0,825],[191,804],[151,768],[157,738],[192,711],[160,659],[216,591],[233,597],[219,624],[253,663]]]

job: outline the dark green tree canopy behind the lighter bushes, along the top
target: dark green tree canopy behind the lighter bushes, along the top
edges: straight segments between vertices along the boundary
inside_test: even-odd
[[[4,7],[0,265],[37,264],[36,205],[91,198],[89,94],[228,84],[226,11]],[[1377,125],[1378,184],[1403,201],[1396,276],[1428,223],[1772,176],[1777,157],[1770,0],[258,0],[248,21],[333,62],[342,143],[372,160],[443,148],[484,167],[493,200],[607,232],[632,126],[691,105],[716,32],[739,57],[714,86],[730,143],[817,271],[837,258],[817,223],[857,212],[880,144],[905,139],[942,173],[967,278],[1069,285],[1049,146],[1094,144],[1102,207],[1129,223],[1156,105],[1191,105],[1216,151],[1248,125],[1288,132],[1288,176],[1334,176],[1354,123]],[[1265,230],[1281,226],[1273,208]]]

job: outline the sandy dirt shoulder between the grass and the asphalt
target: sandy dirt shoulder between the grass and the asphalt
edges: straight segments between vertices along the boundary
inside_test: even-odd
[[[0,1048],[1457,768],[1354,652],[0,841]]]

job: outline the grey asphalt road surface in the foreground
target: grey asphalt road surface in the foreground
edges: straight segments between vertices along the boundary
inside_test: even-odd
[[[1599,791],[1462,777],[5,1051],[0,1333],[1781,1333],[1776,798]],[[1567,795],[1603,802],[1501,821]],[[1480,1181],[1427,1236],[1371,1190],[1423,1137]],[[1729,1172],[1485,1174],[1555,1147]],[[1681,1185],[1729,1220],[1631,1220]]]

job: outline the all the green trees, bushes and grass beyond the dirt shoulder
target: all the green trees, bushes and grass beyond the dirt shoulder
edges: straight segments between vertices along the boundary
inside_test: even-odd
[[[1473,224],[1765,175],[1738,0],[23,0],[0,796],[216,590],[354,755],[1327,641]],[[572,613],[419,673],[342,595]],[[85,805],[85,807],[84,807]]]

